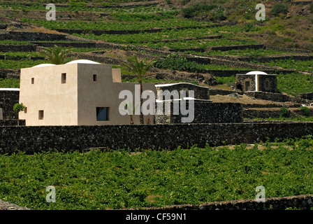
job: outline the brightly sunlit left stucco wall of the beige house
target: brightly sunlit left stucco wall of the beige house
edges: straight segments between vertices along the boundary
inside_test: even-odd
[[[66,83],[61,83],[66,73]],[[34,84],[31,84],[34,78]],[[62,64],[21,69],[20,103],[27,113],[19,118],[26,125],[78,125],[77,64]],[[38,111],[44,111],[38,120]]]

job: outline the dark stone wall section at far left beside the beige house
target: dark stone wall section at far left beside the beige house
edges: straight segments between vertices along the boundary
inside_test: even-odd
[[[20,91],[1,90],[0,108],[3,112],[3,120],[17,119],[17,113],[13,111],[14,104],[19,102]]]

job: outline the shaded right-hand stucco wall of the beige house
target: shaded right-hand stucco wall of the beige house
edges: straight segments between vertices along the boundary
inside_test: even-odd
[[[92,80],[92,73],[97,80]],[[115,71],[116,72],[116,71]],[[119,104],[119,92],[130,90],[135,96],[136,83],[113,83],[112,66],[101,64],[78,64],[78,125],[119,125],[129,124],[130,117],[122,116]],[[155,92],[154,83],[143,83],[143,90]],[[96,120],[96,107],[109,108],[109,120]],[[145,116],[144,120],[153,121],[153,116]],[[139,123],[139,116],[133,116],[134,123]]]

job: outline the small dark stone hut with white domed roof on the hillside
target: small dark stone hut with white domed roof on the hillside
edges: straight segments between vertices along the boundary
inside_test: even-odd
[[[267,74],[263,71],[237,74],[235,89],[242,92],[277,92],[277,75]]]

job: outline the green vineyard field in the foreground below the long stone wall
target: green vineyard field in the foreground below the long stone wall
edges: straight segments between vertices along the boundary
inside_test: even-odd
[[[254,199],[256,186],[265,197],[312,194],[312,149],[312,139],[288,139],[233,149],[0,155],[0,200],[30,209],[122,209]],[[45,201],[47,186],[56,189],[54,203]]]

